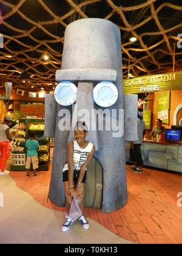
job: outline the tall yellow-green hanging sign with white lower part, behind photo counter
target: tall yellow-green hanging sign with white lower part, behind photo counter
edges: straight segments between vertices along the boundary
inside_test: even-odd
[[[157,115],[164,124],[169,124],[169,99],[170,91],[157,95]]]

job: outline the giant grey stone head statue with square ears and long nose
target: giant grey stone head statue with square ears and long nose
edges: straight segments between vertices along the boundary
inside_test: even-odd
[[[71,119],[74,127],[78,112],[87,110],[90,117],[87,115],[86,119],[82,119],[90,124],[87,140],[95,145],[94,156],[103,167],[102,210],[105,213],[117,210],[127,203],[124,141],[138,138],[137,96],[123,95],[121,36],[118,27],[110,21],[96,18],[69,24],[65,32],[61,70],[56,71],[56,80],[70,81],[78,90],[74,107],[59,105],[54,94],[47,94],[45,98],[45,136],[55,137],[49,198],[56,205],[65,204],[62,168],[66,163],[67,143],[73,140],[73,130],[63,130],[61,126]],[[112,82],[118,91],[116,102],[108,107],[99,107],[93,99],[93,89],[103,81]],[[93,110],[98,110],[97,114]],[[112,110],[115,111],[112,113]],[[103,112],[106,115],[101,130],[99,122]],[[106,129],[108,121],[112,124],[117,121],[118,130],[116,126]]]

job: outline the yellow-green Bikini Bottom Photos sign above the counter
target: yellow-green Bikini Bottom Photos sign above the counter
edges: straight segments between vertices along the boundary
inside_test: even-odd
[[[124,93],[152,93],[182,89],[182,71],[123,80]]]

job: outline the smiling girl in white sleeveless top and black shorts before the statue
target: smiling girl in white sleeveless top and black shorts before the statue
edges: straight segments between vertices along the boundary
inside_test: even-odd
[[[80,199],[79,207],[84,212],[83,195],[87,176],[86,170],[95,151],[95,146],[86,141],[86,136],[86,124],[78,122],[75,129],[75,140],[67,145],[67,163],[62,173],[67,213],[69,213],[73,197]],[[68,216],[66,218],[66,222],[62,225],[62,231],[67,231],[72,224],[72,220]],[[84,229],[89,229],[89,223],[84,215],[79,218],[79,221],[81,221]]]

